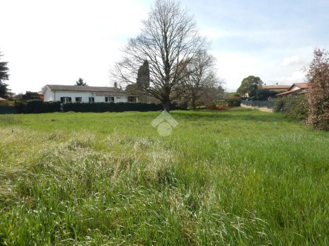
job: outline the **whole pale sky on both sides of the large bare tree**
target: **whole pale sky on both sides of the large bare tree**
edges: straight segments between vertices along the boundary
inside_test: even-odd
[[[235,90],[248,75],[303,82],[314,47],[329,47],[329,1],[182,0],[212,41],[218,75]],[[151,0],[0,0],[0,51],[13,92],[45,84],[112,86],[119,48],[140,30]]]

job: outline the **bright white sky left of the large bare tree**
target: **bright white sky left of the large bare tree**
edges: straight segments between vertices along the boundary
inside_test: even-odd
[[[17,8],[20,6],[20,8]],[[13,92],[45,84],[110,85],[109,67],[119,48],[135,36],[149,1],[13,0],[2,3],[0,49]]]

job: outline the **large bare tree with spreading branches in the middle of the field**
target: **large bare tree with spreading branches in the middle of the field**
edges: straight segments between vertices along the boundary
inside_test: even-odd
[[[150,85],[140,89],[169,111],[170,102],[184,92],[181,84],[189,75],[186,66],[208,44],[199,36],[193,17],[177,1],[156,0],[142,26],[141,33],[122,49],[123,59],[111,74],[120,84],[136,84],[138,68],[147,60]]]

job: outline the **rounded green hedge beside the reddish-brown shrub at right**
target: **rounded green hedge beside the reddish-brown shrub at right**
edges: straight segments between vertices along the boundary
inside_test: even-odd
[[[291,119],[305,120],[308,112],[306,98],[304,95],[281,98],[274,111],[284,112]]]

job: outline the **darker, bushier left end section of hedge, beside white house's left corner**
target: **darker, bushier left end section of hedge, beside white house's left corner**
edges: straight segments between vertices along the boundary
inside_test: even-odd
[[[40,99],[27,102],[17,102],[16,110],[19,113],[49,113],[61,111],[61,102],[43,102]]]

